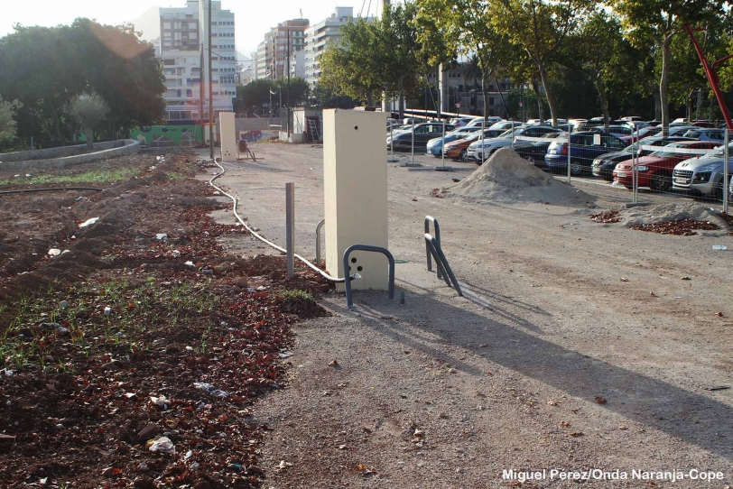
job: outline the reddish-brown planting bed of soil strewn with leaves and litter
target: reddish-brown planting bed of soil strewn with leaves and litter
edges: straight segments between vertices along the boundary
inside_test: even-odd
[[[3,191],[103,189],[0,195],[0,487],[260,486],[249,409],[329,285],[227,254],[245,234],[207,217],[227,206],[201,171],[147,152],[0,172]]]

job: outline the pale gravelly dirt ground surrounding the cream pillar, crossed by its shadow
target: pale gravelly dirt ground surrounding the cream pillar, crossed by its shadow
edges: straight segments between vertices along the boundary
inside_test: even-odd
[[[249,223],[280,244],[284,184],[295,182],[297,251],[312,257],[322,149],[254,150],[262,160],[227,164],[219,181]],[[321,304],[332,315],[295,326],[288,387],[253,411],[272,429],[260,454],[264,487],[733,484],[733,255],[712,249],[733,249],[728,228],[632,230],[630,221],[654,221],[654,209],[671,200],[642,196],[654,205],[626,209],[625,190],[582,182],[595,203],[454,197],[452,179],[476,166],[450,165],[459,170],[389,164],[389,248],[404,304],[359,291],[347,309],[329,292]],[[435,197],[441,188],[449,191]],[[620,222],[589,217],[611,209]],[[426,271],[428,215],[441,223],[464,297]],[[226,210],[212,216],[234,224]],[[250,236],[221,244],[271,254]],[[512,469],[547,472],[505,478]],[[601,473],[570,482],[553,469]]]

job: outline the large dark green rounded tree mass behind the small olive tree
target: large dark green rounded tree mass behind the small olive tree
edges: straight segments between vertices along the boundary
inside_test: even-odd
[[[164,113],[162,66],[131,27],[77,19],[58,27],[16,26],[0,38],[0,92],[20,101],[18,135],[42,146],[70,142],[70,100],[93,91],[109,107],[105,136],[153,125]]]

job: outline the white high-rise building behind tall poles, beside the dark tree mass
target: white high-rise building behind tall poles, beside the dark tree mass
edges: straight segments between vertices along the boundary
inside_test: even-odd
[[[232,111],[232,99],[237,97],[234,14],[222,10],[216,0],[188,0],[185,7],[161,8],[160,56],[169,122],[209,120],[209,2],[214,112]]]

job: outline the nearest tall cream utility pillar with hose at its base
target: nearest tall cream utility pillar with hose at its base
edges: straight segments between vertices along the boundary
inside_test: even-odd
[[[361,275],[351,282],[355,290],[386,291],[389,283],[383,254],[354,252],[351,269],[343,269],[344,252],[352,244],[387,247],[385,124],[385,113],[323,111],[326,270],[338,277]],[[337,289],[343,291],[343,283]]]

